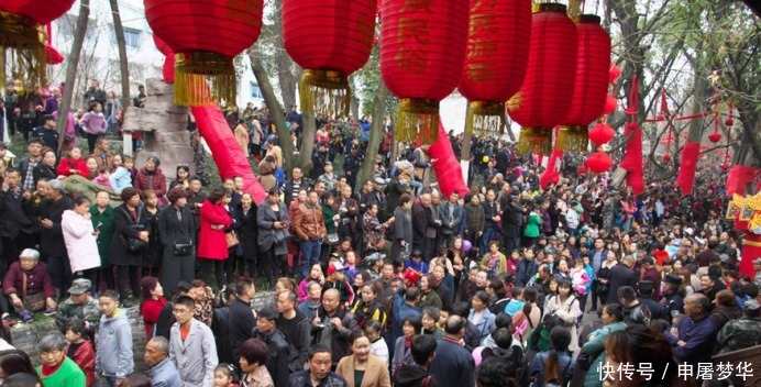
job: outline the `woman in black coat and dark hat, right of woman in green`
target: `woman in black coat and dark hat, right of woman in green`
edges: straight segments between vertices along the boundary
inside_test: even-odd
[[[130,281],[133,291],[140,289],[137,276],[143,263],[144,251],[130,252],[128,246],[130,240],[143,241],[147,246],[148,231],[147,220],[140,215],[141,204],[137,190],[126,187],[122,190],[121,198],[124,203],[113,210],[113,224],[117,230],[111,240],[110,258],[111,264],[118,267],[117,289],[121,299],[120,303],[124,308],[131,308],[132,302],[128,298],[126,281]]]

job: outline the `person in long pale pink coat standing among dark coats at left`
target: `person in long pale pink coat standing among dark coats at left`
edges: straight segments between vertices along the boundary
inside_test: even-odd
[[[90,221],[90,199],[80,195],[74,198],[74,209],[64,211],[60,230],[68,252],[71,273],[96,284],[96,273],[100,267],[98,253],[98,230]]]

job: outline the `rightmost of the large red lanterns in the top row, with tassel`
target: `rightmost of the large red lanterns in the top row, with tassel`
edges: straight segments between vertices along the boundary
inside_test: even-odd
[[[569,113],[560,126],[555,147],[560,151],[585,152],[589,123],[603,114],[608,96],[610,36],[596,15],[575,18],[577,32],[576,76]]]

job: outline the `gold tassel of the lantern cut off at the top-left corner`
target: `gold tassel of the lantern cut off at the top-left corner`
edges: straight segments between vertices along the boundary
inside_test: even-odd
[[[0,47],[10,48],[18,70],[34,88],[45,80],[45,38],[42,27],[33,20],[0,11]],[[0,75],[0,78],[4,84],[5,76]]]

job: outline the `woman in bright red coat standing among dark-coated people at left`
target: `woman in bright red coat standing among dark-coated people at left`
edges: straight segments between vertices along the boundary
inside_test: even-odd
[[[232,219],[224,208],[224,198],[231,192],[216,188],[201,207],[201,230],[198,239],[198,258],[201,259],[201,276],[209,283],[212,266],[217,274],[217,284],[224,286],[224,261],[229,257],[225,230],[232,225]]]

